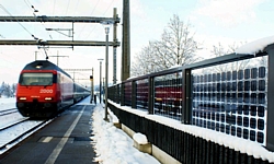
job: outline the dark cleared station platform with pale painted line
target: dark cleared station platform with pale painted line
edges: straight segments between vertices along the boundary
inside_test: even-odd
[[[95,153],[92,145],[94,104],[77,104],[47,126],[1,154],[0,164],[89,164]]]

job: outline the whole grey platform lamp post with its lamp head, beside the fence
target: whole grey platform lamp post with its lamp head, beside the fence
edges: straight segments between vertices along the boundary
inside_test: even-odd
[[[110,28],[111,25],[113,24],[113,21],[103,21],[101,22],[101,24],[104,25],[105,28],[105,90],[104,90],[104,97],[105,97],[105,116],[104,116],[104,120],[109,120],[107,119],[107,85],[109,85],[109,34],[110,34]]]

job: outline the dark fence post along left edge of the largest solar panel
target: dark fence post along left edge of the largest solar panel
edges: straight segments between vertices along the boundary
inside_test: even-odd
[[[191,80],[191,69],[183,70],[182,80],[182,122],[186,125],[192,124],[192,80]]]

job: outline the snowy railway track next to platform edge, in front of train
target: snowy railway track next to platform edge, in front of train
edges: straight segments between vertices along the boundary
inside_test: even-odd
[[[0,129],[0,154],[44,127],[50,120],[31,120],[28,118]]]

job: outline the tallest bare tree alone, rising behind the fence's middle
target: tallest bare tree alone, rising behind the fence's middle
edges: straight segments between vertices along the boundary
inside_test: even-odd
[[[191,24],[184,23],[178,15],[173,15],[163,31],[161,40],[156,42],[157,57],[162,58],[165,69],[174,65],[189,65],[197,60],[198,49],[194,40],[195,33],[191,32]]]

